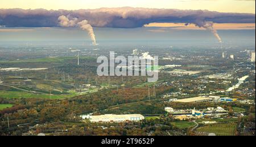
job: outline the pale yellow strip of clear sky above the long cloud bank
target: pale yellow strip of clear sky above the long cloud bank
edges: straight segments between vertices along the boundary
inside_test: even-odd
[[[0,8],[78,10],[101,7],[177,8],[255,14],[255,0],[1,0]]]

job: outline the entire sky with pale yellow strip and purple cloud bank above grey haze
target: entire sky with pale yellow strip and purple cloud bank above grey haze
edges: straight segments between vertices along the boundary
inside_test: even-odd
[[[218,37],[216,29],[255,29],[255,0],[0,1],[0,28],[79,27],[84,20],[92,27],[207,29]]]

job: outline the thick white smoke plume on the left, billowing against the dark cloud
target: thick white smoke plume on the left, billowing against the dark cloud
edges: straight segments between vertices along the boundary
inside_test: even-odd
[[[80,27],[82,30],[85,30],[88,32],[93,45],[97,45],[96,37],[93,31],[92,25],[88,23],[87,20],[82,20],[79,22],[77,18],[73,18],[72,20],[69,20],[67,16],[59,16],[59,25],[61,27]]]

